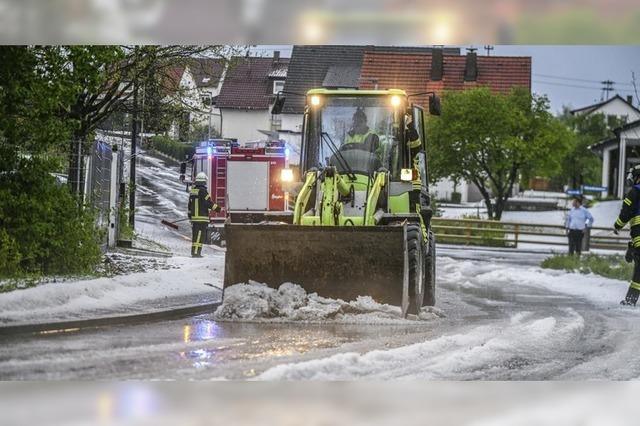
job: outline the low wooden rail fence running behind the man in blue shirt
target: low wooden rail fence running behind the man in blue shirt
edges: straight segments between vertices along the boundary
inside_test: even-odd
[[[528,244],[567,245],[566,230],[562,225],[433,218],[432,226],[438,242],[448,244],[511,248]],[[628,241],[627,230],[615,235],[611,228],[591,228],[585,234],[583,249],[624,250]]]

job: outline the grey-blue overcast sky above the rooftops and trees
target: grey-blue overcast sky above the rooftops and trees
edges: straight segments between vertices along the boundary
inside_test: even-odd
[[[291,55],[291,46],[257,46],[254,51],[268,53],[281,50]],[[461,49],[464,54],[464,47]],[[482,48],[478,53],[485,55]],[[631,72],[635,71],[640,90],[640,47],[638,46],[495,46],[492,55],[531,56],[533,91],[545,93],[551,109],[560,111],[563,105],[573,108],[600,101],[603,80],[615,82],[614,91],[626,99],[633,95],[638,106]],[[612,96],[612,94],[610,94]]]

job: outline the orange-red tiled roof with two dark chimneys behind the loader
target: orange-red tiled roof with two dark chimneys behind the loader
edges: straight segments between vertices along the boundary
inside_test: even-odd
[[[360,88],[404,89],[407,93],[462,90],[488,86],[495,92],[506,93],[514,87],[531,90],[531,57],[478,56],[478,78],[464,81],[465,56],[443,55],[442,80],[431,81],[431,55],[365,52]],[[426,104],[427,97],[415,98]]]

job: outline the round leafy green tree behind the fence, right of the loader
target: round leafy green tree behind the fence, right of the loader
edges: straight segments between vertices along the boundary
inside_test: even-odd
[[[431,179],[474,183],[490,219],[500,220],[522,173],[559,169],[568,131],[549,113],[546,97],[514,89],[447,92],[442,115],[429,119]]]

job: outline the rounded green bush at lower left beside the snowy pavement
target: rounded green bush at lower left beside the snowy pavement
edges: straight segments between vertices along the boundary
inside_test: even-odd
[[[49,165],[22,159],[0,174],[0,276],[78,274],[100,261],[100,232]]]

